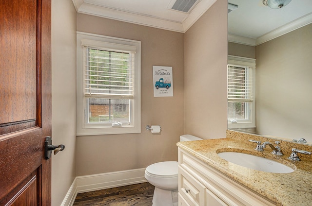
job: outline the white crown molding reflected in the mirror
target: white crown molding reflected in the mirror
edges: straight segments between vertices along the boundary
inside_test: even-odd
[[[290,33],[296,29],[299,29],[303,26],[306,26],[308,24],[312,23],[312,13],[307,14],[303,17],[300,17],[288,24],[285,24],[284,26],[281,26],[272,32],[269,32],[267,34],[264,34],[257,39],[253,38],[248,38],[248,37],[243,37],[243,36],[238,36],[234,34],[229,34],[228,36],[228,41],[229,42],[234,42],[234,43],[239,43],[239,44],[245,44],[249,46],[258,46],[260,44],[263,44],[267,41],[270,41],[274,38],[277,38],[281,35]]]

